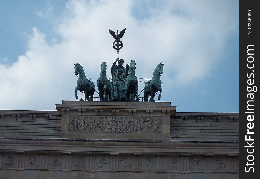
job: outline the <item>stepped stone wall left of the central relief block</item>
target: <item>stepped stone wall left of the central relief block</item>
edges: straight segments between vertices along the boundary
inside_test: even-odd
[[[0,137],[59,138],[60,129],[57,111],[0,110]]]

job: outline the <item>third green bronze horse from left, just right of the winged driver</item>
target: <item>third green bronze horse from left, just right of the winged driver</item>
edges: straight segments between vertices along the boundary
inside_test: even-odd
[[[131,63],[129,65],[129,70],[128,70],[128,75],[126,78],[126,88],[125,88],[125,93],[126,93],[126,101],[134,101],[134,98],[137,94],[138,91],[138,81],[135,76],[135,60],[131,60]],[[131,95],[131,98],[129,99]]]

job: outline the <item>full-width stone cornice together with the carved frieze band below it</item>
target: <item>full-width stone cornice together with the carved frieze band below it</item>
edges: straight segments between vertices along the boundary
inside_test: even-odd
[[[2,138],[0,144],[1,149],[3,144],[5,146],[0,153],[0,169],[64,172],[200,172],[202,175],[208,172],[239,172],[237,142],[182,143],[162,140],[28,138],[17,138],[14,141]],[[13,148],[20,150],[14,152]]]

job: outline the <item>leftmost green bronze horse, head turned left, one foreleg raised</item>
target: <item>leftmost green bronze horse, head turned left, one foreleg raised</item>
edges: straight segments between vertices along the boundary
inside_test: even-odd
[[[75,98],[78,99],[77,90],[85,93],[85,101],[93,101],[93,95],[95,92],[95,85],[85,76],[85,72],[83,67],[80,64],[75,65],[75,75],[79,74],[79,78],[77,80],[77,87],[75,88]]]

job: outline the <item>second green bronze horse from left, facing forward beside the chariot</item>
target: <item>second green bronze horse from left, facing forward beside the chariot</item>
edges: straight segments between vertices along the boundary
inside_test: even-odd
[[[105,62],[101,62],[100,76],[97,79],[97,88],[99,92],[100,101],[111,101],[111,83],[106,76]],[[107,96],[108,95],[108,96]]]

